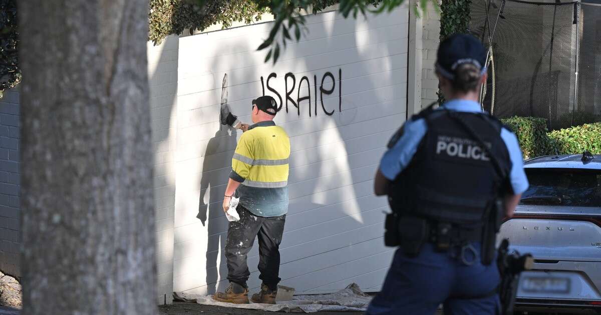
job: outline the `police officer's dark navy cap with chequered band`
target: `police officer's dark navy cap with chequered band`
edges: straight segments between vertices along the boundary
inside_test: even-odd
[[[453,34],[442,41],[436,58],[436,70],[450,80],[455,78],[455,70],[462,64],[473,64],[482,74],[486,72],[486,49],[469,34]]]

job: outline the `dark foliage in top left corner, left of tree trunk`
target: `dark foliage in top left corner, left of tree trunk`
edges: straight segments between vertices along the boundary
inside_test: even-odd
[[[17,1],[0,0],[0,98],[21,80],[18,46]]]

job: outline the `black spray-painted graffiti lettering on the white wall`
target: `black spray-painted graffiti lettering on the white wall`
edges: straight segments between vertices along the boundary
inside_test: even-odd
[[[296,107],[297,115],[301,116],[301,103],[303,101],[308,101],[307,108],[309,109],[309,117],[311,117],[311,88],[314,89],[314,112],[313,116],[317,116],[317,90],[319,89],[319,98],[320,104],[322,105],[323,113],[326,115],[334,115],[335,109],[328,111],[326,109],[325,104],[323,104],[323,95],[332,95],[338,88],[338,112],[342,112],[342,69],[338,69],[338,82],[336,82],[336,77],[331,72],[326,72],[322,76],[322,82],[319,86],[317,86],[317,75],[313,76],[313,85],[311,85],[310,79],[308,76],[303,76],[301,80],[299,80],[298,86],[296,85],[296,77],[294,73],[288,72],[284,75],[284,95],[285,99],[282,99],[282,94],[280,94],[276,89],[269,85],[269,81],[271,79],[276,79],[278,75],[274,73],[270,73],[267,76],[267,82],[265,84],[263,77],[261,76],[261,88],[263,89],[263,95],[265,95],[265,86],[267,89],[276,95],[279,99],[278,111],[282,109],[285,103],[286,112],[288,112],[288,102],[292,104],[292,106]],[[288,79],[292,79],[291,81]],[[303,83],[307,83],[307,89],[303,86]],[[290,84],[291,83],[291,84]],[[331,86],[330,86],[331,84]],[[326,87],[325,87],[326,86]],[[296,99],[293,98],[293,92],[297,89]],[[304,94],[306,91],[306,94]],[[301,93],[303,95],[301,96]]]

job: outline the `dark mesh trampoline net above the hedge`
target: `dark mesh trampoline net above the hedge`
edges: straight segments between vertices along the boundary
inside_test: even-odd
[[[501,0],[489,4],[494,27]],[[471,5],[470,31],[489,45],[486,4]],[[575,10],[579,18],[575,20]],[[578,11],[576,11],[578,13]],[[600,121],[601,14],[597,5],[541,3],[506,0],[493,38],[495,101],[491,107],[492,80],[487,83],[484,109],[498,117],[535,116],[548,120],[550,129]],[[588,16],[588,19],[587,19]],[[577,23],[576,23],[577,22]],[[578,27],[578,32],[576,30]],[[576,85],[576,35],[579,78]],[[492,67],[489,65],[489,76]],[[576,94],[576,95],[575,95]],[[575,98],[576,96],[576,98]]]

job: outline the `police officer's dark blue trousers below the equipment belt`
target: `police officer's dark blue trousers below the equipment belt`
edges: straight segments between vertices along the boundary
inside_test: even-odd
[[[424,244],[419,255],[410,258],[399,249],[386,275],[382,291],[371,301],[368,315],[432,315],[444,305],[445,315],[499,314],[498,295],[489,295],[499,283],[496,263],[480,263],[480,244],[460,258],[459,248],[437,253],[432,244]]]

